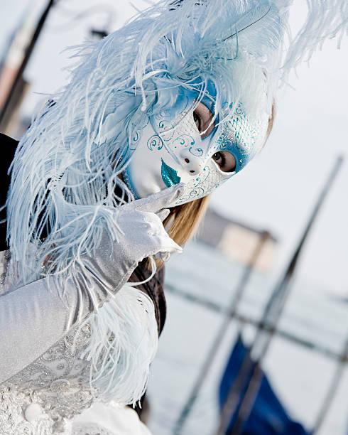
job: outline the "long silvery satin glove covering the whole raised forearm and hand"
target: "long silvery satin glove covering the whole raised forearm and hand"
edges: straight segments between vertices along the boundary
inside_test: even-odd
[[[81,256],[82,267],[64,288],[53,275],[0,296],[0,384],[110,299],[141,259],[182,250],[161,222],[168,215],[162,209],[182,193],[178,185],[117,208],[119,240],[104,231],[93,256]]]

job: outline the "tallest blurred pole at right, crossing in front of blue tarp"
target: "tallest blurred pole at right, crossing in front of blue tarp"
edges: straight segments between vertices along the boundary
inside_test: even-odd
[[[240,435],[243,431],[244,424],[249,418],[257,393],[259,392],[262,378],[261,362],[266,355],[268,346],[271,343],[274,332],[276,331],[276,324],[278,323],[283,311],[283,307],[286,303],[290,289],[290,281],[293,279],[293,274],[298,264],[300,253],[303,249],[303,245],[305,245],[305,241],[307,240],[313,222],[317,218],[320,208],[327,197],[327,193],[329,193],[332,183],[335,181],[337,173],[339,173],[342,162],[343,157],[337,157],[332,171],[325,182],[325,186],[322,188],[319,198],[317,199],[317,203],[312,210],[310,219],[308,220],[305,230],[303,231],[303,235],[300,238],[300,242],[298,247],[295,249],[288,268],[286,269],[281,281],[276,285],[276,289],[272,292],[271,298],[269,299],[263,313],[260,326],[256,331],[254,343],[251,345],[251,349],[246,355],[246,358],[244,358],[236,380],[234,381],[234,384],[232,385],[227,396],[227,401],[222,409],[216,435],[227,434],[229,422],[234,414],[236,414],[236,420],[232,426],[232,429],[228,432],[228,435]],[[241,399],[239,399],[239,393],[246,386],[246,382],[249,380],[250,375],[251,380],[249,381],[246,392],[242,395]]]

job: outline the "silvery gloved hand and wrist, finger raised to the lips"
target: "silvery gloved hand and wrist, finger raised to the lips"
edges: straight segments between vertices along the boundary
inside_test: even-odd
[[[104,231],[93,257],[82,256],[87,274],[103,293],[118,291],[142,259],[155,254],[168,259],[168,254],[183,251],[170,239],[162,224],[169,213],[165,207],[175,202],[183,190],[184,186],[178,184],[116,208],[117,240]]]

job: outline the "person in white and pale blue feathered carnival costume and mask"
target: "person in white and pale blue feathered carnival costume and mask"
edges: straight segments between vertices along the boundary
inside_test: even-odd
[[[312,2],[286,41],[290,4],[163,0],[77,50],[11,165],[1,434],[146,433],[114,404],[146,388],[164,306],[156,262],[262,148],[290,69],[347,30],[345,1]]]

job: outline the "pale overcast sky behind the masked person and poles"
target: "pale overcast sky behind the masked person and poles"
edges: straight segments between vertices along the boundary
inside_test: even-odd
[[[1,1],[0,52],[26,6],[40,11],[45,4],[43,0]],[[133,4],[142,8],[147,3],[134,0]],[[293,28],[303,17],[303,4],[295,1]],[[73,20],[79,11],[85,11],[85,16]],[[67,53],[60,52],[65,46],[83,41],[91,27],[114,30],[134,11],[126,0],[60,0],[26,70],[31,91],[53,92],[62,85]],[[347,155],[347,49],[347,40],[340,50],[335,41],[327,41],[309,66],[298,68],[298,78],[293,75],[290,80],[293,89],[289,87],[278,102],[266,149],[212,198],[214,208],[224,215],[278,237],[278,272],[298,242],[337,155]],[[32,113],[40,98],[31,93],[23,109]],[[339,294],[348,294],[347,186],[345,162],[315,223],[299,271],[318,289]]]

